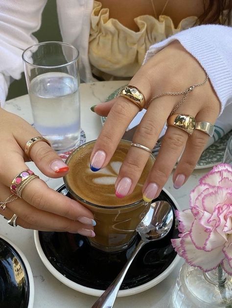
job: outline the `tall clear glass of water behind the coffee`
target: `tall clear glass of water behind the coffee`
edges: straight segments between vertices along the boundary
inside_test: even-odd
[[[45,42],[23,52],[24,71],[35,128],[58,153],[80,142],[78,50]]]

